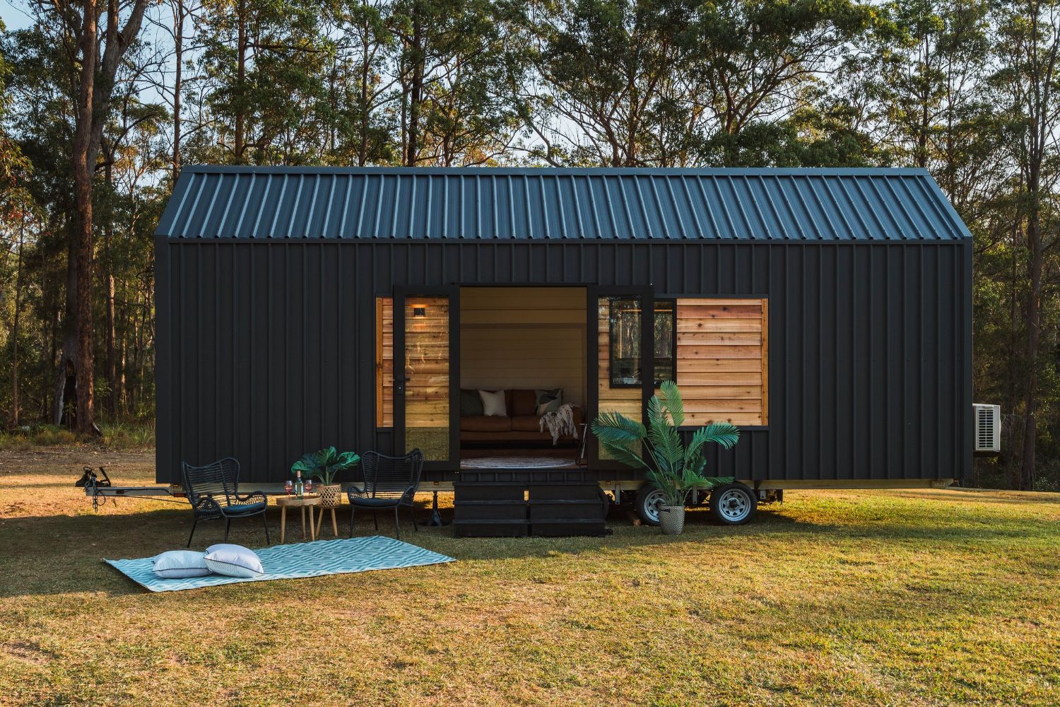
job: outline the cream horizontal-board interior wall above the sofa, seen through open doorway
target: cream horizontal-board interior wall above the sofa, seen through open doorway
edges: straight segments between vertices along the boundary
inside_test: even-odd
[[[460,387],[563,388],[585,404],[584,287],[462,287]]]

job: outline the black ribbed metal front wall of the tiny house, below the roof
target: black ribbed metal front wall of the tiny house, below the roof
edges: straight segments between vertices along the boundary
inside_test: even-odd
[[[158,479],[232,455],[286,477],[374,428],[374,298],[394,285],[651,283],[770,298],[770,427],[718,473],[961,477],[971,465],[971,244],[170,241],[158,245]]]

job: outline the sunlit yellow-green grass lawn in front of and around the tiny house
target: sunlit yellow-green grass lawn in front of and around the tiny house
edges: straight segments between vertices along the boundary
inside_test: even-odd
[[[1060,704],[1060,494],[789,493],[674,538],[409,528],[458,562],[152,595],[101,559],[182,547],[188,508],[93,513],[83,463],[153,482],[149,453],[0,453],[2,705]]]

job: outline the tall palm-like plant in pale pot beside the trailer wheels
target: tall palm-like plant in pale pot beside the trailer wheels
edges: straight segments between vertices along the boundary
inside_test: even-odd
[[[732,477],[704,476],[703,447],[720,444],[726,449],[740,440],[735,425],[716,422],[695,430],[686,444],[677,428],[685,424],[685,403],[677,384],[664,381],[661,392],[648,403],[648,427],[620,412],[604,412],[593,421],[593,434],[618,461],[647,470],[648,480],[659,491],[659,526],[668,535],[685,528],[685,503],[693,489],[710,490],[731,483]]]

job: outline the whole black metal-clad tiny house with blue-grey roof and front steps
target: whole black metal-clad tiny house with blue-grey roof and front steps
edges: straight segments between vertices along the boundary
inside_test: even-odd
[[[584,424],[666,379],[752,503],[971,465],[972,242],[923,170],[193,166],[156,251],[160,482],[419,447],[458,533],[652,520]]]

